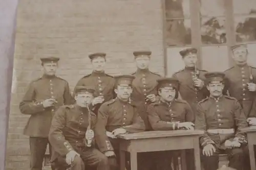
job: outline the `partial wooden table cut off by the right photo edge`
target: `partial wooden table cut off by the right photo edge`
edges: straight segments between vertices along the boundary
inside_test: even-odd
[[[256,126],[250,126],[248,128],[244,128],[241,131],[247,133],[251,170],[256,170],[255,153],[253,148],[253,145],[256,144]]]

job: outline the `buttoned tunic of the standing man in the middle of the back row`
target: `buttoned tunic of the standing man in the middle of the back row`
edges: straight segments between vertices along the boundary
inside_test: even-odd
[[[152,128],[150,127],[146,113],[146,108],[151,102],[146,101],[145,97],[149,94],[158,95],[157,79],[161,76],[149,71],[148,69],[138,69],[132,75],[135,76],[135,79],[133,80],[133,93],[131,95],[131,100],[138,108],[139,115],[145,123],[146,130],[151,130]]]

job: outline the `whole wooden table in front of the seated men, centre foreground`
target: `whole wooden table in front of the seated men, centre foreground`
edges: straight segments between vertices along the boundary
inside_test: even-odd
[[[122,134],[120,140],[120,168],[125,169],[125,151],[131,155],[131,169],[137,170],[137,153],[194,149],[196,170],[201,170],[199,135],[203,131],[148,131]]]

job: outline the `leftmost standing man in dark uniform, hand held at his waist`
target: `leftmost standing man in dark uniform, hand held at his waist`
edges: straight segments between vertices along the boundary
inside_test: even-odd
[[[31,115],[24,134],[30,136],[32,170],[42,169],[52,117],[56,109],[73,101],[68,82],[55,76],[58,60],[57,57],[41,58],[44,75],[30,83],[19,104],[20,112]],[[51,145],[49,149],[51,154]]]

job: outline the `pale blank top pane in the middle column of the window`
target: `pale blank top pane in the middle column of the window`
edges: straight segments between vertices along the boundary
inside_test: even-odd
[[[201,16],[224,16],[224,1],[223,0],[201,0]]]

